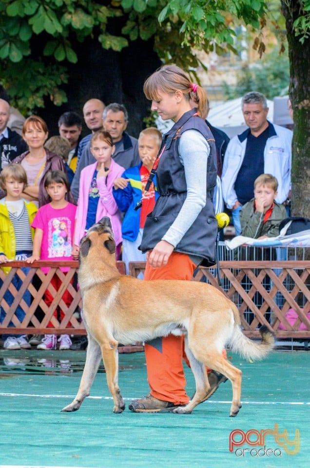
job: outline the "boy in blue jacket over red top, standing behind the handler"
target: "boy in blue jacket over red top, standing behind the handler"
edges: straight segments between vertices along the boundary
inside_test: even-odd
[[[141,244],[146,216],[152,212],[157,199],[156,176],[148,192],[145,185],[161,145],[161,133],[155,127],[149,127],[139,135],[138,151],[141,163],[130,167],[122,176],[115,179],[113,195],[121,212],[125,213],[122,223],[123,251],[122,260],[128,274],[129,262],[146,261],[145,254],[138,250]],[[136,204],[143,198],[142,207],[135,210]]]

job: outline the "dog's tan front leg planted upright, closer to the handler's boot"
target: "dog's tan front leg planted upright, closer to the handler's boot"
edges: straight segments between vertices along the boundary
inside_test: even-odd
[[[101,346],[102,359],[107,377],[107,384],[114,401],[114,413],[121,413],[125,409],[124,400],[118,387],[118,351],[117,342],[109,340]]]

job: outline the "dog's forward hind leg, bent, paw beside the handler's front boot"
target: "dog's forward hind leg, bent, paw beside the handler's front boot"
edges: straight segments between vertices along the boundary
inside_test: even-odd
[[[174,413],[182,414],[191,413],[193,409],[204,400],[205,395],[210,390],[206,368],[201,362],[197,361],[194,354],[189,349],[187,337],[185,337],[185,352],[190,362],[191,370],[194,374],[196,391],[193,399],[185,407],[178,407],[173,411]]]

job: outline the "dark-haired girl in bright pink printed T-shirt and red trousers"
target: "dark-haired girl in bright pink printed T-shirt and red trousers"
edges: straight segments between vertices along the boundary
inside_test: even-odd
[[[66,200],[66,194],[70,192],[70,184],[67,175],[62,171],[52,171],[47,174],[44,182],[45,190],[51,202],[41,206],[32,222],[32,227],[36,232],[33,240],[33,254],[27,259],[28,263],[35,260],[73,260],[72,241],[77,207]],[[43,273],[48,273],[50,267],[42,267]],[[70,268],[61,267],[60,270],[66,274]],[[61,286],[61,280],[55,274],[51,280],[51,285],[56,291]],[[44,294],[45,303],[50,306],[54,297],[50,291]],[[67,307],[70,306],[73,297],[66,290],[62,296]],[[59,317],[58,317],[59,312]],[[64,317],[64,312],[59,309],[54,311],[54,316]],[[70,326],[70,322],[68,323]],[[50,322],[48,327],[52,327]],[[68,350],[71,346],[70,336],[63,334],[59,338],[59,350]],[[57,345],[56,334],[47,334],[42,342],[37,346],[39,350],[54,350]]]

